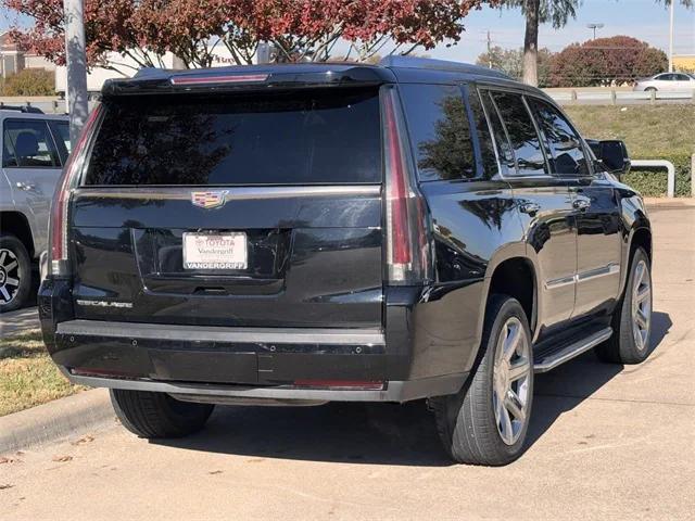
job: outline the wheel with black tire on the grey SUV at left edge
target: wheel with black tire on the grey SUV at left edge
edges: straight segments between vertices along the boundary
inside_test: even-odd
[[[31,262],[26,246],[12,233],[0,233],[0,313],[24,306],[30,291]]]

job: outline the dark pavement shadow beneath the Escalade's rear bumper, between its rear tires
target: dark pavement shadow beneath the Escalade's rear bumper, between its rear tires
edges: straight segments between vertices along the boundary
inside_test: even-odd
[[[425,467],[452,465],[424,401],[405,405],[218,406],[205,430],[150,443],[254,457]]]

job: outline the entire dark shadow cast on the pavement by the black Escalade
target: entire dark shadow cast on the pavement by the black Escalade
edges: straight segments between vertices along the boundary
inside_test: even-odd
[[[653,316],[658,348],[671,327]],[[555,420],[594,394],[622,370],[591,352],[535,380],[535,407],[528,447]],[[445,467],[445,456],[425,402],[405,405],[332,403],[319,407],[217,406],[199,434],[150,443],[190,450],[311,461]]]

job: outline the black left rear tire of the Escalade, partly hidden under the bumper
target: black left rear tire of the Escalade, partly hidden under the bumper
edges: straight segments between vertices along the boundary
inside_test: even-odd
[[[121,423],[140,437],[182,437],[200,431],[214,405],[180,402],[166,393],[111,390]]]

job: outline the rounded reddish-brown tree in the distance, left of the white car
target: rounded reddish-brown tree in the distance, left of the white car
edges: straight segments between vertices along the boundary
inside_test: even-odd
[[[629,36],[572,43],[551,61],[552,87],[587,87],[632,81],[666,71],[660,49]]]

